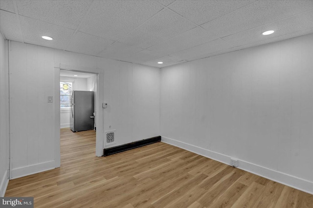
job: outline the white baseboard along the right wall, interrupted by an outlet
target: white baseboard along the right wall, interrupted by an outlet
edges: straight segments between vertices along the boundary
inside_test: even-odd
[[[213,152],[207,149],[203,149],[201,147],[188,144],[182,141],[178,141],[175,139],[170,139],[166,137],[162,137],[162,142],[168,143],[174,146],[177,146],[179,148],[188,150],[190,152],[196,153],[198,155],[202,155],[206,158],[213,159],[218,162],[223,162],[225,164],[230,165],[230,156],[220,154],[217,152]],[[251,162],[246,162],[238,159],[238,167],[239,169],[245,170],[247,172],[253,173],[258,176],[262,176],[264,178],[267,178],[269,180],[278,182],[283,185],[287,185],[296,189],[299,189],[301,191],[313,194],[313,182],[301,179],[286,173],[282,173],[276,170],[272,170]]]

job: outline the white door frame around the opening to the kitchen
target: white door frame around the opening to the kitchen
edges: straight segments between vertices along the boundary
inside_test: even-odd
[[[60,151],[60,69],[78,72],[93,73],[97,75],[96,81],[96,146],[95,155],[102,157],[104,149],[104,109],[102,108],[104,98],[104,73],[102,69],[82,68],[60,64],[54,66],[54,161],[55,167],[61,166]]]

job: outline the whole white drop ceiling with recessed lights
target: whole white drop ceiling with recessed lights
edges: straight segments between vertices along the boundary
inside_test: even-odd
[[[313,0],[0,0],[0,31],[12,41],[165,67],[313,33]]]

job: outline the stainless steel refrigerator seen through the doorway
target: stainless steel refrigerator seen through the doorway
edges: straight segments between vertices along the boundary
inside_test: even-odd
[[[94,92],[72,91],[69,128],[73,132],[91,130],[94,126]]]

